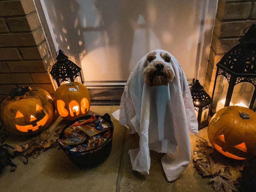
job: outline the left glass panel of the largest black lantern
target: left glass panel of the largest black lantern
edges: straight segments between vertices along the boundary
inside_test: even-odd
[[[226,96],[228,92],[228,80],[225,76],[219,75],[216,79],[216,86],[213,96],[212,108],[217,112],[224,108]],[[233,105],[233,103],[230,103]]]

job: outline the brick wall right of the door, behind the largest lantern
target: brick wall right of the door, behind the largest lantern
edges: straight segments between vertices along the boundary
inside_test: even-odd
[[[212,35],[204,88],[212,94],[216,64],[232,47],[239,44],[244,29],[256,23],[255,0],[219,0]]]

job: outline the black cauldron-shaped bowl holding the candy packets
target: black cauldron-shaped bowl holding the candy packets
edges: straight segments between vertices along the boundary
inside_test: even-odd
[[[107,157],[109,156],[109,154],[111,152],[114,125],[113,125],[108,113],[106,113],[104,116],[96,115],[96,117],[97,118],[101,117],[102,119],[107,121],[112,126],[110,128],[111,134],[107,141],[105,141],[99,147],[87,150],[86,152],[72,152],[72,151],[69,151],[66,148],[64,148],[62,145],[60,145],[60,148],[67,154],[69,159],[79,167],[88,167],[89,168],[89,167],[94,167],[98,164],[101,164],[107,159]],[[89,119],[89,118],[91,118],[91,115],[82,116],[82,117],[79,117],[79,118],[71,121],[60,132],[59,139],[64,138],[64,131],[65,131],[65,129],[68,128],[68,126],[74,124],[78,120]]]

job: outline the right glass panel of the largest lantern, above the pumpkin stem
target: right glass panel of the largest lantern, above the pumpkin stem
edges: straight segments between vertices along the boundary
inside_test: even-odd
[[[231,97],[231,102],[234,105],[249,108],[254,89],[253,84],[249,82],[236,84]]]

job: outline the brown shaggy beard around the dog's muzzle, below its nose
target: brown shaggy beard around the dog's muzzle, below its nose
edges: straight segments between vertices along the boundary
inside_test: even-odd
[[[144,82],[150,86],[167,85],[173,79],[173,72],[169,66],[164,66],[162,71],[157,71],[155,65],[150,65],[144,69]]]

